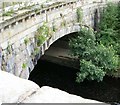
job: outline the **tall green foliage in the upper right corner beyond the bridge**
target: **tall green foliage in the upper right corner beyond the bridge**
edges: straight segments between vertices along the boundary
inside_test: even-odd
[[[105,46],[113,46],[120,55],[120,6],[109,3],[102,13],[99,23],[100,32],[98,37],[99,42]]]

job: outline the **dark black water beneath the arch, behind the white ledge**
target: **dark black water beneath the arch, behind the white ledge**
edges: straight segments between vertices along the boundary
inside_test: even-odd
[[[105,77],[103,82],[78,84],[75,82],[77,72],[76,69],[39,60],[29,79],[40,87],[51,86],[88,99],[120,103],[120,79]]]

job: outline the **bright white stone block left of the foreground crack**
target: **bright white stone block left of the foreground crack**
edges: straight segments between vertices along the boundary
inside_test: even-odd
[[[0,70],[0,100],[2,103],[21,101],[25,97],[22,96],[23,94],[31,94],[37,89],[39,89],[37,84]]]

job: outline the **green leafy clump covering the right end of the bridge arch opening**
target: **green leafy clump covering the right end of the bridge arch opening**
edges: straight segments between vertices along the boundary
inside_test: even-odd
[[[76,38],[70,39],[69,47],[72,56],[83,57],[83,52],[86,49],[95,47],[95,35],[92,30],[83,28]]]

